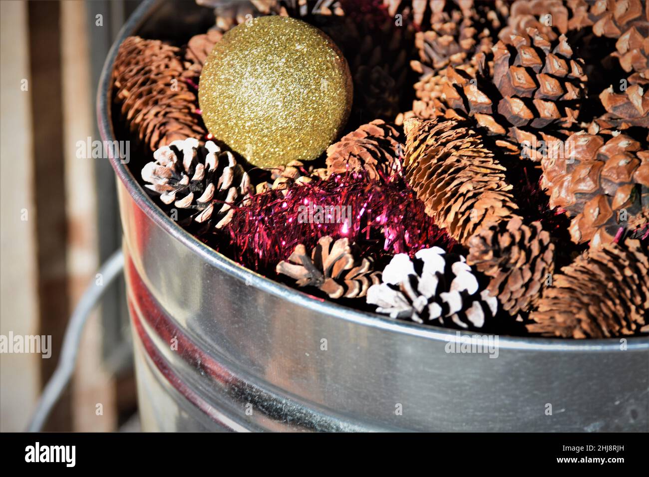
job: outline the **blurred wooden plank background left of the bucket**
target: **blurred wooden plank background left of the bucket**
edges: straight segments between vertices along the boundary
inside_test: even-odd
[[[23,430],[53,373],[65,326],[121,245],[112,169],[77,158],[100,140],[99,73],[138,1],[0,2],[0,334],[51,335],[52,356],[0,354],[0,431]],[[47,430],[130,426],[136,395],[123,283],[90,319]],[[101,414],[98,413],[101,404]]]

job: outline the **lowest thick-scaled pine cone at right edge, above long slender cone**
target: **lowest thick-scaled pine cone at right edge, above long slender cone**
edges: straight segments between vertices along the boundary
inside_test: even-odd
[[[649,151],[624,134],[607,140],[579,132],[568,141],[574,160],[544,158],[541,186],[550,193],[551,207],[573,217],[572,240],[598,247],[649,208]]]

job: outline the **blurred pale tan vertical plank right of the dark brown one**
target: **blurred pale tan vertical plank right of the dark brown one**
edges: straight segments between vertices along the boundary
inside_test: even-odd
[[[106,158],[77,154],[77,143],[85,144],[88,138],[101,140],[95,134],[95,84],[91,83],[89,35],[106,27],[88,21],[86,8],[92,10],[93,5],[79,1],[61,3],[67,273],[71,303],[77,303],[88,283],[97,280],[99,198],[95,173],[99,164],[108,162]],[[108,173],[112,175],[112,171]],[[114,189],[109,192],[115,195]],[[110,300],[110,295],[104,300]],[[89,318],[79,345],[72,387],[75,432],[110,432],[117,428],[114,381],[103,363],[103,326],[99,315],[94,312]]]

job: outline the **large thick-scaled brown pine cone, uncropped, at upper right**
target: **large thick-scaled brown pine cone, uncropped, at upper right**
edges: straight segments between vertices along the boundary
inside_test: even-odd
[[[544,140],[574,124],[586,77],[565,36],[551,42],[535,29],[496,43],[493,66],[478,53],[475,78],[448,67],[448,106],[474,117],[489,134],[509,134],[519,143]]]

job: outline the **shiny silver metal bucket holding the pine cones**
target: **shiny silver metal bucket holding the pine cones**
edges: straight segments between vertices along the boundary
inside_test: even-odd
[[[119,139],[117,45],[172,24],[189,38],[204,13],[153,0],[134,12],[99,84],[103,140]],[[143,430],[649,430],[646,337],[500,336],[491,354],[449,352],[472,334],[357,312],[257,275],[182,230],[127,165],[112,164]]]

